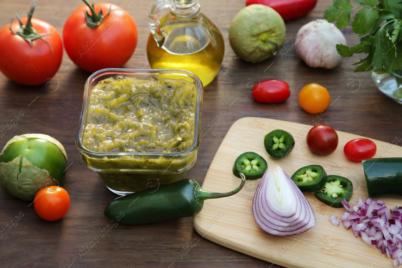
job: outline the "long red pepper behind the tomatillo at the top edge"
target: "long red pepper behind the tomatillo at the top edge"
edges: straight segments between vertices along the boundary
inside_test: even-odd
[[[283,20],[292,20],[307,14],[317,4],[317,0],[247,0],[246,6],[263,4],[273,8]]]

